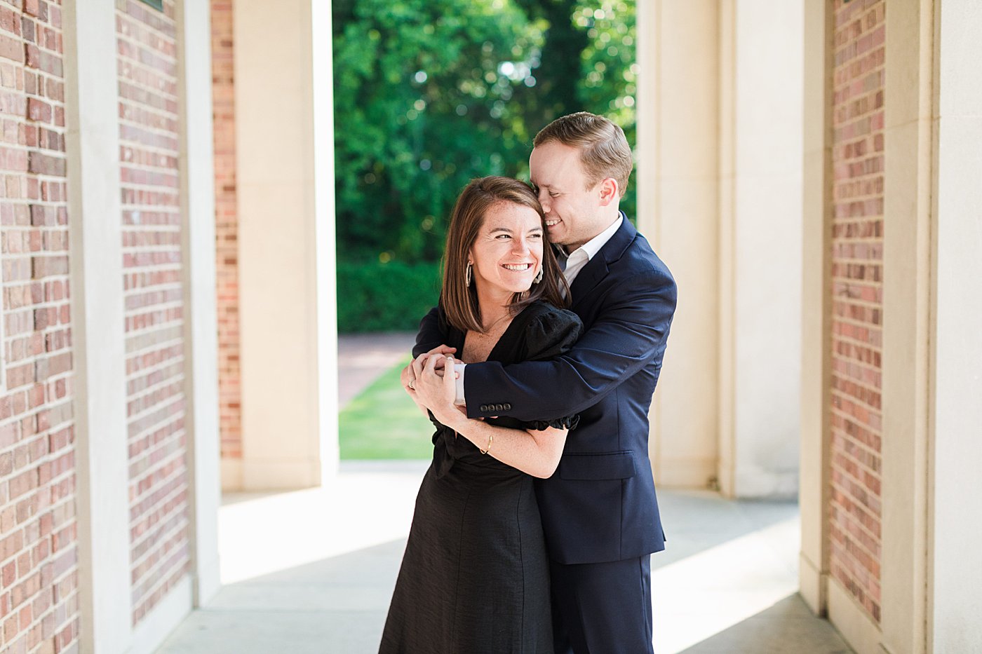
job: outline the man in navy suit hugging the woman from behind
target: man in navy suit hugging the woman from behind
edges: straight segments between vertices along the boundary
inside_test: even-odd
[[[469,417],[579,413],[556,473],[536,480],[557,654],[652,652],[650,554],[664,549],[665,534],[648,460],[648,409],[676,285],[620,211],[632,165],[624,132],[600,116],[564,116],[535,136],[531,182],[583,336],[551,361],[458,366]],[[413,354],[441,340],[434,309],[420,323]],[[408,367],[408,388],[411,375]]]

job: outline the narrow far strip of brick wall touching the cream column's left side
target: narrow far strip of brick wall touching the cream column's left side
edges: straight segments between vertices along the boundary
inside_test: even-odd
[[[222,458],[242,458],[239,388],[239,243],[232,0],[211,0],[215,131],[215,241],[218,278],[218,391]]]

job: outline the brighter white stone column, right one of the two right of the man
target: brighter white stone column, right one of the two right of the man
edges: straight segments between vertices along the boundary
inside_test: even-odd
[[[792,497],[800,420],[803,7],[765,0],[722,7],[720,482],[729,496]]]

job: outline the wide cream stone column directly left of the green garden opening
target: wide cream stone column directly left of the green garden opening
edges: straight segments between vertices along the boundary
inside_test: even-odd
[[[236,3],[246,489],[314,486],[337,464],[326,4]]]

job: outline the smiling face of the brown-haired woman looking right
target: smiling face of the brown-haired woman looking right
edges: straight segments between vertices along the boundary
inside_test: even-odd
[[[534,209],[507,201],[492,204],[470,246],[477,290],[505,301],[527,291],[542,266],[544,240],[542,219]]]

